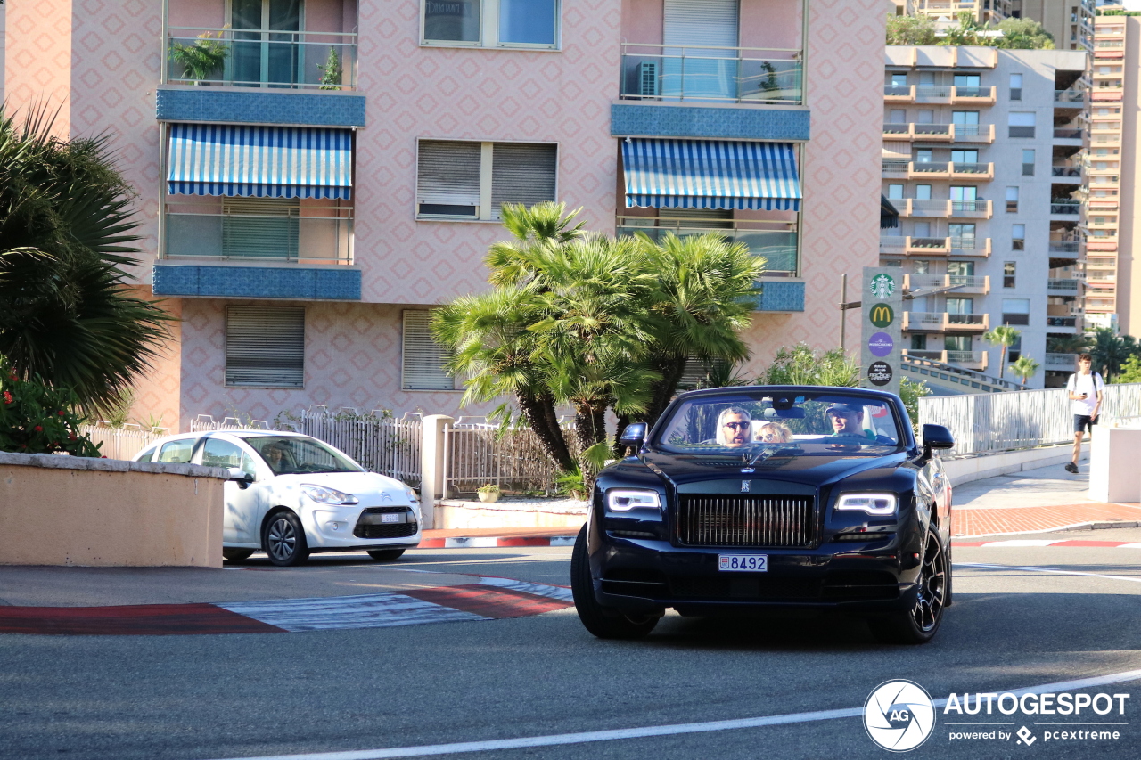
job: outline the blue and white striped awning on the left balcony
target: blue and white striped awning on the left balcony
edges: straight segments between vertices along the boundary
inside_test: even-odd
[[[349,199],[353,132],[171,124],[169,167],[171,194]]]

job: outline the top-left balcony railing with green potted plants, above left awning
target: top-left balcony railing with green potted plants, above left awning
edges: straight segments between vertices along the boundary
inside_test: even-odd
[[[172,26],[161,76],[169,84],[355,90],[356,59],[356,34]]]

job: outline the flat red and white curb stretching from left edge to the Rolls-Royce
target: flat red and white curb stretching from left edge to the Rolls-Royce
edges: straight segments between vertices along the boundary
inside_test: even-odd
[[[573,607],[570,589],[502,577],[354,597],[120,607],[0,607],[0,633],[297,633],[528,617]]]

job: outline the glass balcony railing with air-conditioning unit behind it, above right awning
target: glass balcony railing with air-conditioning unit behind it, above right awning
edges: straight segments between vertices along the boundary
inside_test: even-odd
[[[628,100],[802,105],[799,50],[622,43],[620,92]]]

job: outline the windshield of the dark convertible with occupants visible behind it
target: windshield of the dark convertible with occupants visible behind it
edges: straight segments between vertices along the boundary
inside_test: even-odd
[[[736,390],[679,404],[652,446],[683,454],[881,456],[899,448],[891,406],[844,393]]]

